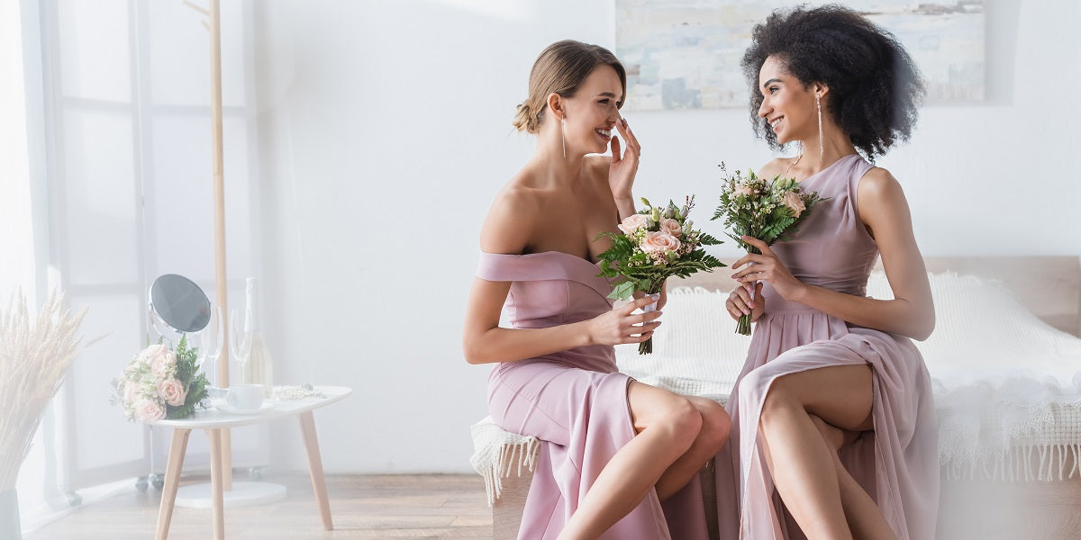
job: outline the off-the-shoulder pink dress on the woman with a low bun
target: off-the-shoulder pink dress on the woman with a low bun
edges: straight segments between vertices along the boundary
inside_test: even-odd
[[[482,280],[512,282],[505,309],[516,328],[576,323],[611,310],[612,286],[598,273],[597,265],[561,252],[481,253],[477,270]],[[492,369],[488,401],[495,423],[540,440],[518,538],[559,536],[604,465],[633,438],[630,380],[617,372],[611,346],[578,347]],[[708,538],[698,478],[664,504],[650,490],[601,538]]]

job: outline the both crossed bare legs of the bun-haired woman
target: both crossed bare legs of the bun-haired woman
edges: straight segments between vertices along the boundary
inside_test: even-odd
[[[627,388],[635,438],[598,475],[560,539],[599,537],[650,489],[662,500],[686,485],[726,444],[731,422],[711,400],[683,397],[631,381]]]

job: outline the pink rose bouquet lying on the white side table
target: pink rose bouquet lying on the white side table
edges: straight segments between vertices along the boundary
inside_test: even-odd
[[[128,420],[152,422],[185,418],[206,399],[206,374],[199,372],[198,350],[181,336],[176,351],[162,342],[143,349],[114,379],[112,403],[124,408]]]

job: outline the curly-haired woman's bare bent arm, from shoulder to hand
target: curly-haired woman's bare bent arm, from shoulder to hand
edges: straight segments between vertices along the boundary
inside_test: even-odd
[[[733,266],[759,265],[744,268],[733,278],[740,283],[768,281],[787,300],[859,326],[926,339],[935,326],[934,302],[900,185],[888,171],[872,168],[859,181],[857,206],[878,243],[894,299],[865,298],[804,284],[780,265],[769,246],[749,237],[745,240],[762,249],[762,255],[748,255]]]

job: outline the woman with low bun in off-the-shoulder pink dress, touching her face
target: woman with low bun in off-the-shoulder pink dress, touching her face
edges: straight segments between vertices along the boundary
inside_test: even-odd
[[[536,149],[481,230],[463,347],[469,363],[495,364],[495,422],[540,440],[522,539],[706,538],[697,474],[725,444],[728,416],[618,373],[613,346],[652,336],[660,312],[636,310],[665,299],[613,309],[612,284],[598,276],[610,245],[598,233],[635,213],[641,148],[619,116],[625,93],[624,68],[605,49],[545,49],[515,120],[537,135]],[[589,156],[610,147],[611,157]],[[504,307],[511,328],[499,326]]]

